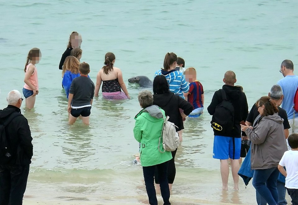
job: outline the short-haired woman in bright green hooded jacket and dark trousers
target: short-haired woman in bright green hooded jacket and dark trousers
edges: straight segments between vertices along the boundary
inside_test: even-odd
[[[171,152],[163,150],[162,137],[160,141],[160,152],[158,150],[159,138],[161,136],[165,111],[153,105],[153,96],[150,91],[142,91],[138,100],[143,108],[135,117],[136,123],[133,128],[134,138],[141,143],[140,159],[143,166],[145,186],[149,203],[157,205],[156,191],[154,187],[154,172],[157,168],[160,192],[164,205],[170,205],[170,190],[168,184],[168,163],[172,159]]]

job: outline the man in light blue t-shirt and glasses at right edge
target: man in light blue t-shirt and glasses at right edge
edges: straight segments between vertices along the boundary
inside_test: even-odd
[[[289,133],[298,133],[298,113],[295,112],[294,117],[294,96],[298,87],[298,76],[294,75],[294,65],[291,60],[284,60],[280,66],[279,72],[282,73],[284,78],[280,79],[277,83],[282,87],[283,91],[283,101],[282,108],[286,110],[288,115],[288,120],[291,128]],[[288,141],[287,141],[288,145]],[[288,149],[291,149],[288,145]]]

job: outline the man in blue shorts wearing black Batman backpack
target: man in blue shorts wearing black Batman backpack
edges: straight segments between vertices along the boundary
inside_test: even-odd
[[[225,85],[216,91],[207,110],[212,116],[214,131],[213,158],[220,159],[220,173],[223,190],[228,190],[229,165],[231,159],[234,190],[238,190],[239,161],[241,149],[240,122],[248,115],[248,105],[244,92],[234,86],[236,74],[227,71],[223,79]]]

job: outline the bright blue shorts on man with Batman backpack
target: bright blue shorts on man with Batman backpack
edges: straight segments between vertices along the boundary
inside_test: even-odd
[[[214,159],[240,159],[241,138],[214,136]]]

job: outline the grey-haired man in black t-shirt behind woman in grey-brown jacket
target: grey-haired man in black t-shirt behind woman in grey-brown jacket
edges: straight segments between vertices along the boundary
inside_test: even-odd
[[[268,93],[268,96],[276,104],[276,106],[278,107],[278,115],[284,120],[283,127],[284,127],[285,138],[287,139],[289,136],[289,129],[291,127],[288,121],[286,110],[279,107],[282,104],[282,101],[284,99],[282,88],[279,85],[273,85],[270,89],[270,92]],[[246,124],[254,127],[257,124],[257,121],[260,117],[261,116],[260,116],[260,113],[258,112],[258,108],[254,104],[247,116]],[[282,174],[279,174],[278,182],[277,182],[278,204],[287,204],[287,201],[285,199],[286,197],[285,180],[286,180],[285,177],[282,176]],[[258,192],[256,192],[256,199],[257,199],[258,205],[267,204],[266,200]]]

